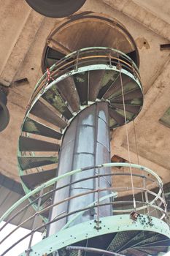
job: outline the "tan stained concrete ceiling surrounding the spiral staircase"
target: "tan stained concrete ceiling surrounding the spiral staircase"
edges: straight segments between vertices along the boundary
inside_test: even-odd
[[[81,11],[102,12],[124,24],[136,41],[144,86],[144,107],[127,125],[131,162],[155,170],[170,181],[170,129],[159,122],[170,106],[169,0],[87,0]],[[40,64],[47,35],[62,19],[45,18],[24,0],[7,0],[0,16],[0,83],[9,90],[10,121],[0,133],[0,172],[19,180],[17,146],[28,99],[42,75]],[[28,83],[15,81],[27,78]],[[134,135],[136,130],[136,141]],[[136,148],[137,144],[137,148]],[[139,157],[138,154],[139,153]],[[125,127],[112,132],[112,155],[129,161]]]

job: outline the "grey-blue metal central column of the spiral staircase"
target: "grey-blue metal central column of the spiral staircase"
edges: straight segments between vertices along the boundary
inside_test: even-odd
[[[107,102],[98,102],[90,105],[85,110],[82,110],[72,121],[65,132],[63,143],[60,151],[60,159],[58,164],[58,176],[75,170],[80,167],[88,167],[102,163],[110,162],[110,143],[109,143],[109,113]],[[58,181],[56,187],[61,187],[64,184],[70,184],[81,178],[95,176],[96,173],[110,173],[110,169],[86,170],[82,173],[77,173],[74,176],[64,178]],[[108,176],[109,177],[109,176]],[[111,181],[108,177],[99,179],[99,187],[111,187]],[[77,184],[70,184],[69,187],[55,192],[53,195],[53,203],[64,200],[67,197],[89,192],[89,190],[98,188],[98,178],[91,178],[87,181],[81,181]],[[99,197],[108,195],[109,191],[100,192]],[[97,193],[91,193],[81,197],[74,198],[69,202],[64,202],[59,206],[55,206],[50,213],[50,220],[55,219],[62,214],[75,211],[80,208],[85,208],[97,199]],[[106,203],[109,200],[104,200]],[[112,215],[112,206],[103,206],[99,208],[99,217]],[[47,236],[51,236],[58,232],[66,222],[70,221],[73,215],[61,219],[49,226]],[[93,211],[85,211],[75,219],[71,225],[88,221],[96,218],[96,208]]]

